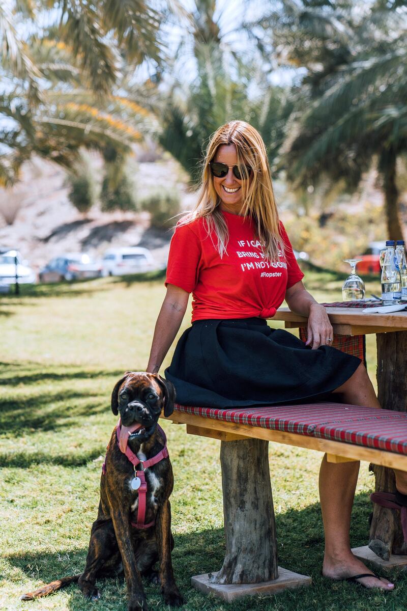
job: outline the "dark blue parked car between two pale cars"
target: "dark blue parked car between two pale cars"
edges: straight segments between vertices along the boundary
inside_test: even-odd
[[[93,261],[89,255],[82,252],[67,252],[47,263],[38,277],[40,282],[61,282],[98,278],[101,275],[101,263]]]

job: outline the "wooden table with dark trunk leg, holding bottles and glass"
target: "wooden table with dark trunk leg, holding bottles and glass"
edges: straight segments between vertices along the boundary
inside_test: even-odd
[[[363,313],[362,309],[327,307],[337,335],[376,334],[378,399],[384,409],[407,411],[407,312]],[[307,318],[280,308],[273,320],[286,329],[305,327]],[[394,492],[392,469],[373,465],[376,491]],[[374,505],[369,547],[383,560],[391,554],[407,554],[400,516],[395,510]]]

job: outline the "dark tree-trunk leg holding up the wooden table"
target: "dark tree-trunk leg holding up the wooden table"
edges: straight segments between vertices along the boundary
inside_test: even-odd
[[[382,408],[407,411],[407,331],[395,331],[376,335],[377,385]],[[371,465],[376,477],[376,492],[394,492],[395,478],[392,469]],[[382,560],[391,554],[407,554],[403,538],[400,511],[373,505],[369,547]]]

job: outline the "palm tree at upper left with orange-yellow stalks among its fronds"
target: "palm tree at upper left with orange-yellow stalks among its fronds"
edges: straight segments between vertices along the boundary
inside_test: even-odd
[[[48,7],[54,7],[47,12]],[[161,61],[159,14],[148,2],[18,0],[0,4],[5,87],[0,95],[0,182],[36,153],[72,167],[79,147],[121,155],[156,131],[143,106],[151,82],[131,84],[146,57]],[[29,34],[18,35],[26,22]],[[38,23],[46,23],[39,27]],[[18,31],[21,31],[21,27]]]

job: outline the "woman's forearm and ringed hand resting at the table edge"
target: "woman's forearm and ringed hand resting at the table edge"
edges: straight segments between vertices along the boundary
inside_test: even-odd
[[[319,346],[332,345],[332,342],[327,340],[333,340],[334,330],[325,307],[315,301],[301,281],[287,288],[286,302],[292,312],[308,316],[308,337],[305,342],[307,346],[311,344],[312,349],[316,350]]]

